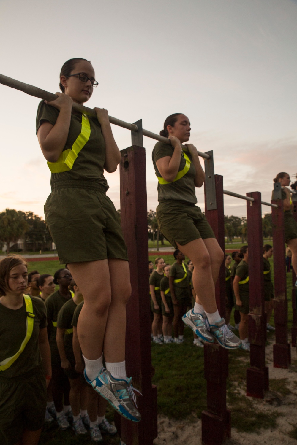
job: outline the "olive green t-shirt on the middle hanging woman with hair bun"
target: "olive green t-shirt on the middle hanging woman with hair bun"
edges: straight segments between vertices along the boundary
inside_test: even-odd
[[[185,146],[182,146],[183,150],[187,150]],[[157,142],[154,150],[152,152],[152,160],[155,168],[155,173],[157,177],[162,177],[156,162],[164,158],[165,156],[172,156],[174,148],[171,145],[165,144],[165,142]],[[191,154],[186,151],[187,157],[191,161],[191,165],[187,173],[180,178],[178,181],[171,182],[170,184],[160,184],[158,182],[158,201],[184,201],[190,202],[191,204],[196,204],[197,198],[195,195],[195,185],[194,178],[196,174],[195,166],[192,162]],[[179,164],[179,171],[183,170],[186,165],[186,160],[182,156]]]

